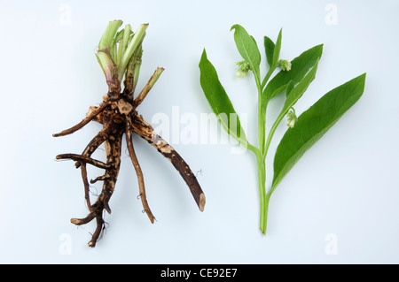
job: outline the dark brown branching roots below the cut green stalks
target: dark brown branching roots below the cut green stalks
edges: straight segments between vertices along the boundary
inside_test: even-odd
[[[130,89],[131,90],[131,89]],[[149,91],[149,89],[148,89]],[[145,95],[148,93],[146,90]],[[81,155],[78,154],[61,154],[56,159],[71,159],[75,161],[76,168],[80,168],[82,172],[82,181],[84,186],[84,197],[89,209],[89,214],[83,218],[72,218],[71,223],[74,225],[86,225],[93,219],[96,219],[96,230],[91,236],[89,246],[94,248],[105,229],[104,210],[111,213],[109,202],[115,189],[116,181],[121,167],[121,141],[123,134],[126,136],[129,156],[133,167],[137,174],[137,182],[139,187],[140,199],[145,213],[153,223],[155,217],[149,207],[145,194],[145,179],[143,171],[138,164],[135,149],[133,147],[132,134],[137,133],[140,137],[149,142],[157,149],[162,156],[165,156],[170,163],[176,168],[190,188],[192,196],[201,211],[205,206],[205,195],[200,187],[198,180],[192,173],[192,170],[184,162],[175,149],[173,149],[166,141],[164,141],[157,133],[153,132],[153,127],[148,124],[145,119],[137,114],[136,107],[141,103],[145,95],[139,95],[138,100],[133,100],[132,91],[125,89],[122,93],[114,92],[110,89],[107,95],[104,95],[104,102],[98,107],[90,107],[86,118],[82,121],[60,133],[53,134],[54,137],[65,136],[86,126],[90,121],[97,121],[103,125],[103,129],[89,142]],[[93,159],[91,155],[98,149],[101,144],[105,144],[106,163]],[[101,193],[98,195],[96,202],[90,202],[90,186],[87,176],[87,164],[94,165],[100,169],[104,169],[103,175],[95,179],[91,179],[90,183],[103,181]]]

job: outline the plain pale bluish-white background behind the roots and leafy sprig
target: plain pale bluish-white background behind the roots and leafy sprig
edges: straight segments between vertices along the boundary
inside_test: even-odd
[[[398,14],[398,1],[1,1],[0,263],[399,263]],[[241,58],[232,25],[254,35],[263,74],[263,35],[275,40],[283,27],[286,59],[325,44],[298,114],[367,72],[363,97],[271,197],[267,236],[258,228],[251,152],[231,154],[229,144],[173,144],[192,171],[202,171],[207,205],[201,213],[172,165],[137,136],[155,224],[142,213],[124,148],[113,213],[97,247],[87,246],[94,223],[69,223],[88,212],[82,179],[74,162],[55,156],[81,152],[100,126],[58,139],[51,133],[79,122],[106,93],[94,50],[112,19],[133,29],[150,24],[137,88],[165,67],[138,109],[144,118],[171,118],[173,106],[180,115],[211,111],[198,68],[206,48],[236,111],[247,115],[254,144],[254,80],[235,76]],[[281,103],[270,103],[270,118]],[[285,130],[283,123],[270,147],[268,186],[271,156]],[[98,176],[91,172],[90,178]],[[99,192],[100,184],[95,187]]]

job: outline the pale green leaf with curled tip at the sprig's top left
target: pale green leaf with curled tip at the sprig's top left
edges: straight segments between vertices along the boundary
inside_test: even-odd
[[[246,60],[251,66],[251,70],[259,80],[260,71],[259,65],[261,64],[261,53],[259,52],[258,45],[256,44],[254,37],[249,35],[244,27],[234,25],[231,30],[234,29],[234,41],[236,42],[237,49],[241,57]]]

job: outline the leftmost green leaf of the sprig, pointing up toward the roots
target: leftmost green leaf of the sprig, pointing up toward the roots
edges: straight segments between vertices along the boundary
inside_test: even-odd
[[[200,59],[200,85],[207,97],[207,102],[226,132],[246,144],[246,133],[241,127],[239,116],[219,81],[214,65],[207,59],[205,49]],[[236,120],[231,120],[234,115]]]

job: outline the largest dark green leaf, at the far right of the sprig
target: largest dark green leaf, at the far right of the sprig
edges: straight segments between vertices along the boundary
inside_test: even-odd
[[[365,73],[321,97],[298,118],[278,144],[270,194],[303,154],[356,103],[364,92]],[[291,92],[292,93],[292,92]]]

